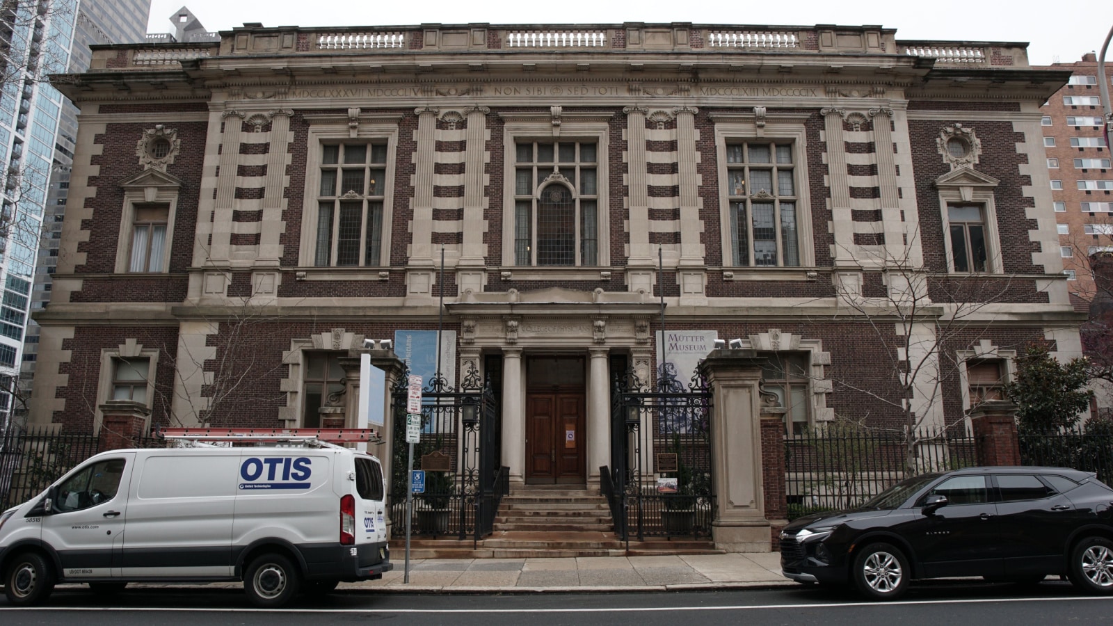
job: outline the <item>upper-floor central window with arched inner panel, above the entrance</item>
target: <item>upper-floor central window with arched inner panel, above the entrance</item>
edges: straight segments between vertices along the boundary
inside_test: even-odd
[[[514,265],[599,265],[597,143],[519,140],[514,148]]]

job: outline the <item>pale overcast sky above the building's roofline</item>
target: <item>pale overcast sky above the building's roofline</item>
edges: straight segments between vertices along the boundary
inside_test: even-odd
[[[170,32],[169,17],[183,0],[154,0],[148,32]],[[1027,41],[1033,65],[1080,60],[1101,50],[1113,26],[1109,0],[188,0],[208,30],[244,22],[263,26],[397,26],[440,23],[693,22],[815,26],[881,25],[897,39]],[[1113,58],[1107,59],[1113,62]]]

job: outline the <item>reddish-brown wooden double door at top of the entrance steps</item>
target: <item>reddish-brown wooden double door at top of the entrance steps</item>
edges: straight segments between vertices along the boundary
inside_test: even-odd
[[[525,420],[525,482],[583,485],[587,479],[583,390],[529,390]]]

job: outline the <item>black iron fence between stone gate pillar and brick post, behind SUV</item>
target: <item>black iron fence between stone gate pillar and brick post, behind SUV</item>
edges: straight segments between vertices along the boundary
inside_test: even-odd
[[[788,519],[853,508],[913,476],[977,464],[975,440],[947,430],[900,432],[833,423],[785,439]]]

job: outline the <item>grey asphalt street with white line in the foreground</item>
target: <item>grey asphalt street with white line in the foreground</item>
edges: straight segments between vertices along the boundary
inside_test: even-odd
[[[245,626],[348,625],[352,623],[415,626],[638,625],[846,625],[899,624],[1110,624],[1113,598],[1078,596],[1066,583],[1048,580],[1035,587],[989,585],[973,580],[932,581],[913,587],[903,601],[861,601],[847,590],[780,587],[723,591],[657,591],[626,594],[467,595],[392,594],[347,590],[323,599],[299,598],[278,610],[250,608],[232,588],[142,588],[115,597],[98,597],[80,587],[59,589],[47,606],[22,609],[0,599],[0,622],[7,625]]]

